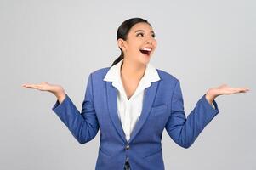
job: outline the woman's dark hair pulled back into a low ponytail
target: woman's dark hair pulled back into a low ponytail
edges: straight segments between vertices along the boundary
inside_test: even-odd
[[[128,36],[128,32],[130,31],[130,29],[137,23],[139,22],[145,22],[147,24],[149,24],[151,26],[151,24],[142,18],[131,18],[128,20],[125,20],[122,22],[122,24],[118,27],[117,29],[117,40],[119,38],[122,38],[123,40],[127,39]],[[119,61],[121,61],[123,59],[123,52],[122,49],[120,47],[118,47],[121,50],[121,55],[112,63],[111,66],[116,65]]]

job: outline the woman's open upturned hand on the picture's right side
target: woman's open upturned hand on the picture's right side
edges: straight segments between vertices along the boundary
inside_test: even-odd
[[[238,94],[238,93],[246,93],[249,91],[249,88],[231,88],[227,84],[223,84],[218,88],[210,88],[206,93],[206,99],[210,104],[213,103],[213,99],[222,94]]]

